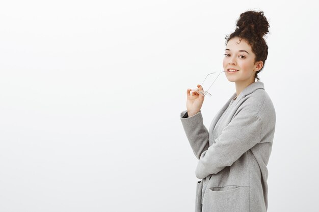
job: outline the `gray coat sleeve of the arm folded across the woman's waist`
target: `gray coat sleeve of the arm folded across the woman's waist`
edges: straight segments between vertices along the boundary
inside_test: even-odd
[[[198,161],[195,174],[203,179],[231,166],[245,152],[261,140],[262,122],[260,117],[243,108],[223,129],[211,146]]]

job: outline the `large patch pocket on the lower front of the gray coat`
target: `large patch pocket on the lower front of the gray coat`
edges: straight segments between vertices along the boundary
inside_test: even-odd
[[[207,188],[202,211],[247,212],[249,211],[249,188],[249,186]]]

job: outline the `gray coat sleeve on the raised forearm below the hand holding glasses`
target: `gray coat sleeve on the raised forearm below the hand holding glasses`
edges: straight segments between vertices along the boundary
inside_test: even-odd
[[[209,147],[209,133],[203,124],[201,111],[188,117],[187,110],[180,113],[180,120],[183,125],[186,137],[188,138],[193,152],[197,159]]]

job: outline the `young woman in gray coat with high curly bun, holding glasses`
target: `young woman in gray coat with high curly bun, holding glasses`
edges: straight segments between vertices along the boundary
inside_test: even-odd
[[[200,111],[204,97],[187,90],[187,110],[180,119],[199,160],[195,211],[267,211],[267,164],[276,113],[257,75],[268,55],[263,38],[268,28],[263,12],[247,11],[237,20],[235,32],[226,36],[224,73],[235,82],[236,92],[216,114],[209,131]]]

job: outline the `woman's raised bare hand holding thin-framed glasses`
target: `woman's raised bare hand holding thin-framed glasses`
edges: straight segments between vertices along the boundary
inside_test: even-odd
[[[201,85],[197,85],[197,87],[199,88],[199,90],[203,90],[203,87]],[[197,94],[195,91],[192,92],[192,95],[191,95],[191,90],[192,89],[187,89],[186,107],[187,107],[187,112],[189,117],[198,113],[204,102],[203,96]]]

